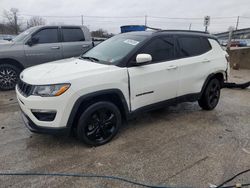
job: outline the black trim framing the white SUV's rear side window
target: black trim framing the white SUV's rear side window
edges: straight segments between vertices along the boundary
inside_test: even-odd
[[[200,55],[203,55],[209,51],[212,50],[212,46],[211,46],[211,43],[209,42],[208,40],[208,37],[204,37],[204,36],[194,36],[194,35],[175,35],[176,37],[176,47],[177,47],[177,56],[178,56],[178,59],[185,59],[185,58],[190,58],[190,57],[196,57],[196,56],[200,56]],[[199,38],[201,40],[201,38],[205,39],[207,41],[207,43],[209,44],[209,50],[206,51],[206,52],[203,52],[201,54],[197,54],[197,55],[192,55],[192,56],[188,56],[188,57],[183,57],[181,56],[181,45],[179,43],[179,38],[182,38],[182,37],[189,37],[189,38]]]

